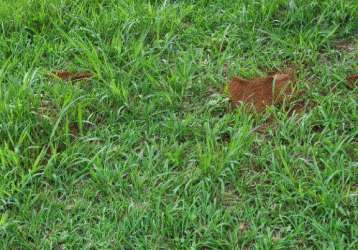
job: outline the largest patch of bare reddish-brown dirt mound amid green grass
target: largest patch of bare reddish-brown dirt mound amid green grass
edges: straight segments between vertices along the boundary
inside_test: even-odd
[[[292,73],[277,73],[264,78],[250,80],[234,77],[229,83],[230,100],[234,106],[241,103],[253,105],[262,112],[269,105],[282,101],[292,93]]]

